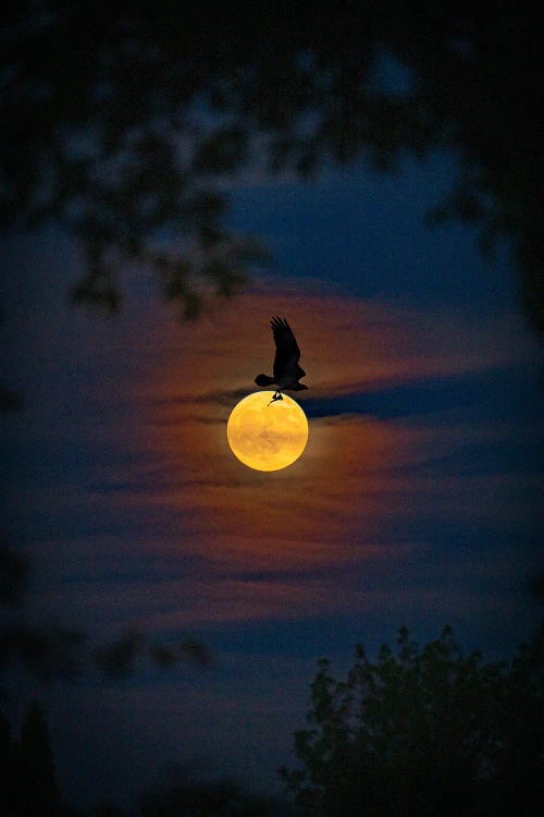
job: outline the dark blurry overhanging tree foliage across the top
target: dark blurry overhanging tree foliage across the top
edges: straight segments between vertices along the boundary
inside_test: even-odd
[[[26,0],[0,38],[0,215],[79,240],[75,297],[114,308],[138,259],[194,315],[232,292],[258,244],[225,229],[225,176],[308,175],[359,155],[390,170],[453,148],[434,220],[511,239],[543,328],[544,48],[531,4],[337,5]],[[388,54],[403,82],[381,81]]]

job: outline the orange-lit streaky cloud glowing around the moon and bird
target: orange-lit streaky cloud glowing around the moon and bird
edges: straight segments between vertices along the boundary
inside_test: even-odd
[[[353,595],[338,595],[334,585],[329,593],[326,582],[317,593],[309,580],[239,583],[236,576],[397,561],[415,545],[385,541],[385,523],[421,514],[422,503],[430,514],[437,505],[446,515],[470,514],[470,480],[436,484],[413,473],[466,441],[467,429],[453,423],[436,428],[371,416],[312,418],[305,454],[285,471],[262,474],[233,456],[226,420],[237,400],[255,390],[255,375],[271,368],[268,320],[274,314],[288,318],[301,347],[310,387],[302,407],[307,395],[505,364],[520,349],[506,318],[497,333],[496,326],[466,326],[455,316],[265,288],[223,303],[196,325],[169,325],[159,349],[149,351],[140,339],[149,366],[132,386],[143,415],[134,440],[139,460],[127,490],[109,495],[108,502],[120,512],[135,503],[149,516],[169,519],[170,535],[149,548],[173,559],[176,551],[193,554],[207,565],[198,581],[187,578],[183,605],[161,613],[161,621],[343,609]],[[493,493],[489,483],[478,490]]]

